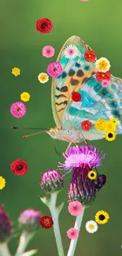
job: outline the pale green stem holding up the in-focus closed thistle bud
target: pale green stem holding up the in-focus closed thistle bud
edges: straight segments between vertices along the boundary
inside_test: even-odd
[[[57,192],[51,193],[50,203],[48,204],[48,207],[50,209],[50,213],[54,221],[54,236],[57,243],[57,251],[59,256],[65,256],[63,246],[62,246],[62,241],[61,241],[61,233],[60,233],[59,222],[58,222],[59,214],[57,213],[56,201],[57,201]]]

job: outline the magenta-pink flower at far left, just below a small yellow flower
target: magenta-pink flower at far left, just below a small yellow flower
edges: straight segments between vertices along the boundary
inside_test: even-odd
[[[10,113],[12,113],[13,117],[24,117],[26,113],[26,106],[23,102],[15,102],[10,107]]]

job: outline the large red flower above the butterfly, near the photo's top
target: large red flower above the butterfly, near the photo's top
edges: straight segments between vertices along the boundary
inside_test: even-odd
[[[52,28],[53,28],[53,23],[51,20],[43,18],[36,21],[36,29],[40,33],[44,33],[44,34],[49,33]]]

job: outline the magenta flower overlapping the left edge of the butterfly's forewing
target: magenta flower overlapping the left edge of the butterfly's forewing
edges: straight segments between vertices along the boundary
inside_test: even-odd
[[[61,76],[62,67],[58,62],[52,62],[47,67],[47,72],[51,77]]]

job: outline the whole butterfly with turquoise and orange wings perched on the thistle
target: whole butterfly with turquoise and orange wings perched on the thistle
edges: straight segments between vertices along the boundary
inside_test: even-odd
[[[79,52],[76,58],[65,56],[65,49],[70,45]],[[56,127],[45,132],[53,139],[68,142],[68,147],[83,140],[87,143],[87,140],[104,139],[105,131],[94,127],[98,119],[117,118],[116,134],[122,133],[122,81],[111,75],[109,86],[102,87],[96,79],[96,58],[94,61],[84,58],[88,50],[91,48],[78,36],[69,38],[57,57],[61,76],[52,79],[51,104]],[[72,100],[73,94],[79,96],[79,101]],[[86,120],[92,124],[88,131],[81,125]]]

